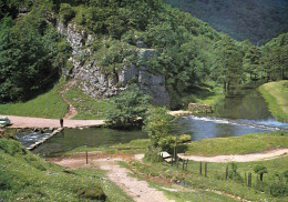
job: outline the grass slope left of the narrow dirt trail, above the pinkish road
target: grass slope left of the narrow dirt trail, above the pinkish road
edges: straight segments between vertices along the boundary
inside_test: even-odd
[[[58,93],[63,83],[61,80],[53,89],[33,100],[0,104],[0,114],[60,119],[68,110],[66,103]]]

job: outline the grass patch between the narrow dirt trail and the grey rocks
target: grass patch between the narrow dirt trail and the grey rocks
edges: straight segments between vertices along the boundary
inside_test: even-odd
[[[71,89],[65,98],[76,108],[78,114],[73,119],[104,119],[111,103],[107,100],[93,99],[79,89]]]

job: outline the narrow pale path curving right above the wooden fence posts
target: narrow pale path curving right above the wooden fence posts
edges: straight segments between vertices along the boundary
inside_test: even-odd
[[[237,155],[216,155],[216,156],[200,156],[200,155],[184,155],[178,154],[182,159],[205,162],[249,162],[271,160],[278,156],[288,156],[288,149],[270,150],[261,153],[237,154]]]

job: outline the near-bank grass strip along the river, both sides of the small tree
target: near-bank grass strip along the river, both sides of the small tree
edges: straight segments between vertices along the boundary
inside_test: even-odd
[[[69,153],[83,151],[105,151],[107,153],[136,154],[145,153],[150,143],[150,139],[141,139],[133,140],[130,143],[99,148],[80,147]],[[241,137],[203,139],[179,145],[178,151],[185,151],[185,154],[187,155],[193,154],[209,156],[263,152],[276,148],[288,148],[288,132],[276,131],[251,133]]]

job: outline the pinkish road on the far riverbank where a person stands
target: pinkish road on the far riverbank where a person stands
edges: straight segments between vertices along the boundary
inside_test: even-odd
[[[29,118],[17,115],[2,115],[10,119],[12,125],[9,128],[60,128],[59,119]],[[104,124],[104,120],[64,120],[65,128],[82,128]]]

